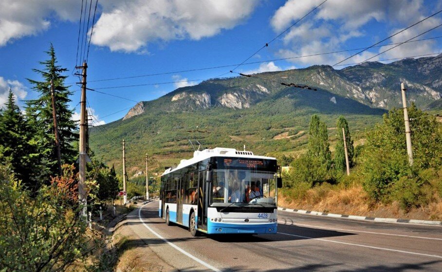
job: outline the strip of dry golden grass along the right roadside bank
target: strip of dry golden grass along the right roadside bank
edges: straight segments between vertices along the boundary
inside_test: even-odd
[[[344,215],[442,220],[442,199],[440,197],[425,207],[414,208],[405,213],[396,201],[390,204],[371,202],[360,184],[345,189],[322,184],[301,195],[302,197],[299,199],[293,199],[280,194],[278,205],[290,209]]]

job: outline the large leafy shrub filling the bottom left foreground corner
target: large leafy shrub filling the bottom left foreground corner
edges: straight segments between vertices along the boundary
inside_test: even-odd
[[[0,165],[1,271],[65,271],[96,246],[80,217],[73,169],[32,196]]]

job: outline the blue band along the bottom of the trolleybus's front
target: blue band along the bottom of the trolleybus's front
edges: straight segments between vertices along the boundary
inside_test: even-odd
[[[234,233],[248,233],[248,234],[275,234],[277,223],[268,224],[229,224],[229,223],[215,223],[207,220],[208,234],[234,234]]]

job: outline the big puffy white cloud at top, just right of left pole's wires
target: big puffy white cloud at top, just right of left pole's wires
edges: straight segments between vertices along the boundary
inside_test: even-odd
[[[155,41],[215,36],[248,18],[256,0],[133,0],[102,3],[92,43],[111,51],[147,52]]]

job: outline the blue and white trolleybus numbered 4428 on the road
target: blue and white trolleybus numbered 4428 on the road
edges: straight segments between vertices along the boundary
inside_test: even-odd
[[[277,189],[272,157],[216,147],[167,168],[161,176],[159,216],[206,234],[276,234]]]

